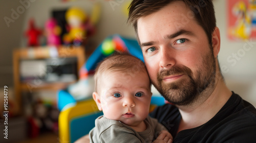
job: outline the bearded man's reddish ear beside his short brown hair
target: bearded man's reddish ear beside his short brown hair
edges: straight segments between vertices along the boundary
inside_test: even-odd
[[[214,57],[216,58],[220,52],[221,47],[221,36],[220,36],[220,30],[218,27],[215,27],[214,32],[212,33],[212,47],[214,48]]]

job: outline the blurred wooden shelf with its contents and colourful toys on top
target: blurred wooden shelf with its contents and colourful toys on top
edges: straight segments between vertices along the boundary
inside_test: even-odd
[[[90,15],[79,7],[53,10],[44,28],[30,18],[25,31],[27,47],[13,51],[14,114],[23,114],[23,95],[57,91],[75,83],[86,60],[85,49],[96,31],[100,5]],[[41,23],[40,23],[41,25]],[[44,46],[42,46],[44,45]],[[42,90],[42,91],[41,91]]]

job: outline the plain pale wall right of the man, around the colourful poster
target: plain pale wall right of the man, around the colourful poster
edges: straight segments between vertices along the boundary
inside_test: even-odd
[[[228,87],[256,107],[256,41],[228,40],[226,2],[214,1],[217,26],[221,32],[220,66],[225,68],[222,72]],[[244,46],[249,50],[245,51]],[[237,54],[238,58],[233,57],[233,54]]]

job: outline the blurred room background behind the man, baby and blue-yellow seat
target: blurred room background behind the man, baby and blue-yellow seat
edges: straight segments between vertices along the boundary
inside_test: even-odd
[[[106,37],[136,39],[126,23],[130,2],[0,0],[0,108],[3,115],[9,111],[8,139],[6,118],[0,118],[1,142],[59,142],[57,91],[77,82],[79,69]],[[254,1],[215,0],[214,5],[226,84],[256,106]],[[249,17],[241,17],[245,14],[239,11]],[[249,21],[249,26],[240,20]]]

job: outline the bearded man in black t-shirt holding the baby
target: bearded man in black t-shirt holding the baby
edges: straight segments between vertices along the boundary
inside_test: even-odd
[[[129,21],[152,83],[172,103],[151,115],[174,142],[255,142],[256,109],[220,72],[211,0],[134,0]]]

